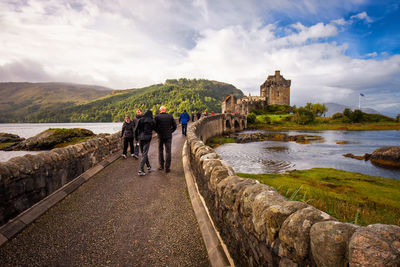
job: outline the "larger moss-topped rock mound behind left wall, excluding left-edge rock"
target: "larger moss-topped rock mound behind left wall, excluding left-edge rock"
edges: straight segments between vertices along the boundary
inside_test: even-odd
[[[80,128],[47,129],[13,147],[13,150],[49,150],[57,145],[79,140],[81,137],[94,136],[92,131]]]

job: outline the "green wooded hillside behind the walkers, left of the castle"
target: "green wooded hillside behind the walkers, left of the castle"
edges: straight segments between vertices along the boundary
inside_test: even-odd
[[[221,100],[228,94],[243,93],[230,84],[209,80],[167,80],[140,89],[117,90],[111,94],[80,105],[71,105],[57,111],[47,110],[26,118],[26,122],[111,122],[122,121],[125,114],[150,109],[155,114],[165,105],[174,116],[184,109],[188,112],[221,112]]]

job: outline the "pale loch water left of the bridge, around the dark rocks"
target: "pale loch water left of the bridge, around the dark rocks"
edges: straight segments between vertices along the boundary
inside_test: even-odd
[[[122,122],[100,122],[100,123],[0,123],[0,132],[19,135],[29,138],[49,128],[84,128],[95,134],[115,133],[121,130]],[[10,158],[23,156],[25,154],[37,154],[43,151],[0,151],[0,162]]]

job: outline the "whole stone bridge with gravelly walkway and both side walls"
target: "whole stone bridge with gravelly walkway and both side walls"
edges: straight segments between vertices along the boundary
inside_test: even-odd
[[[400,227],[338,222],[205,145],[246,127],[217,114],[178,129],[168,174],[137,176],[118,133],[0,163],[0,265],[400,266]]]

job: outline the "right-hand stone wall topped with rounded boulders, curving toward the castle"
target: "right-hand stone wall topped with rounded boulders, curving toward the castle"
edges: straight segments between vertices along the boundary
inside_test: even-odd
[[[400,227],[341,223],[270,186],[236,176],[204,144],[226,131],[226,120],[232,119],[227,116],[232,115],[195,122],[187,142],[199,190],[237,266],[400,266]]]

